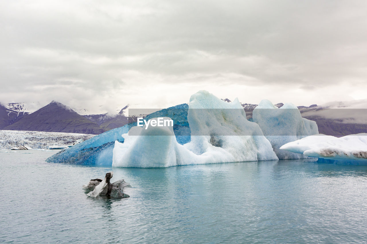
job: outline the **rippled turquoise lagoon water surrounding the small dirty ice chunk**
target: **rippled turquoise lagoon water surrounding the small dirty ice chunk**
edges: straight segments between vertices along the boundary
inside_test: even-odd
[[[123,169],[0,151],[0,243],[366,242],[367,166],[279,160]],[[114,171],[121,200],[81,186]]]

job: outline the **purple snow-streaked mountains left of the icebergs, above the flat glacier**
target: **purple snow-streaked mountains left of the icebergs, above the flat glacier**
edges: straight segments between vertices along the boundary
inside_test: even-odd
[[[128,123],[122,108],[117,115],[97,114],[80,115],[70,107],[52,101],[34,111],[22,111],[22,104],[0,104],[0,130],[30,130],[44,132],[66,132],[100,134]]]

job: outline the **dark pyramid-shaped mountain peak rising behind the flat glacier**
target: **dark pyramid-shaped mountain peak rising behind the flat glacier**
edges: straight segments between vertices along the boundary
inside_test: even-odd
[[[56,101],[52,101],[32,114],[25,115],[19,121],[3,129],[83,134],[100,134],[105,132],[96,123]]]

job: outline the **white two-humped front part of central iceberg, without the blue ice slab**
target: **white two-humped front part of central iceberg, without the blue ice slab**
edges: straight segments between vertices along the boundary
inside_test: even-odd
[[[190,98],[187,116],[189,143],[177,143],[172,126],[133,127],[123,135],[124,143],[115,142],[112,166],[170,167],[278,159],[260,127],[246,119],[237,99],[227,103],[199,91]]]

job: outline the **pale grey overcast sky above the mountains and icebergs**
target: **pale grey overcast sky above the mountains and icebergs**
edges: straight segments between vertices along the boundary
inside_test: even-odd
[[[365,99],[367,1],[0,1],[0,101]]]

